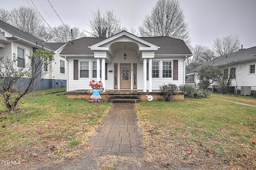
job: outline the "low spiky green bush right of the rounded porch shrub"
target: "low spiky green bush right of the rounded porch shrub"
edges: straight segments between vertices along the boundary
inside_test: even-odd
[[[179,90],[186,92],[185,97],[187,98],[208,98],[212,94],[212,92],[208,90],[195,88],[188,84],[180,85]]]

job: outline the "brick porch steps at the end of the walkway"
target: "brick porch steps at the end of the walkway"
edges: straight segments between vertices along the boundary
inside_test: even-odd
[[[108,101],[112,103],[136,103],[140,101],[140,96],[136,94],[111,94]]]

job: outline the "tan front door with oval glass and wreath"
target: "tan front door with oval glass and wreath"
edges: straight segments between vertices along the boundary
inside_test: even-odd
[[[120,89],[131,88],[131,64],[120,64]]]

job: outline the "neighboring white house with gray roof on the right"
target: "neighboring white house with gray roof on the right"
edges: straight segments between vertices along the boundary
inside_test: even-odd
[[[237,86],[238,90],[240,90],[241,87],[251,87],[252,91],[256,91],[256,46],[219,56],[203,65],[214,65],[224,68],[224,72],[226,72],[227,76],[234,76],[232,86]],[[196,72],[201,66],[196,67],[189,74],[186,74],[186,84],[194,86],[199,83],[199,80],[196,78]],[[211,85],[218,84],[215,81],[214,84]]]

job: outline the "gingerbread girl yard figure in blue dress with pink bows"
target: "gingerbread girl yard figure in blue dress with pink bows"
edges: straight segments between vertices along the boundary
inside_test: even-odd
[[[99,103],[101,101],[100,92],[104,90],[102,82],[96,82],[94,80],[90,81],[89,86],[92,87],[92,90],[88,90],[87,93],[91,94],[89,96],[89,102],[91,103]]]

